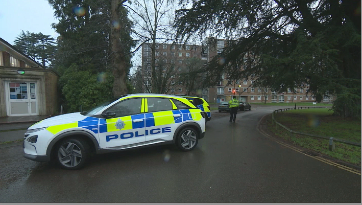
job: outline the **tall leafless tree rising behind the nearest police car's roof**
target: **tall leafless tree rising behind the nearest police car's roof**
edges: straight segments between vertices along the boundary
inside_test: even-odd
[[[136,36],[140,45],[145,48],[142,52],[147,52],[147,57],[143,58],[145,61],[142,63],[143,67],[151,67],[150,76],[147,75],[148,83],[150,86],[147,86],[147,91],[152,93],[163,93],[166,85],[166,81],[159,81],[160,79],[166,78],[171,72],[166,72],[162,74],[160,70],[156,70],[156,67],[169,67],[172,64],[163,64],[161,65],[163,59],[160,59],[156,55],[156,52],[159,50],[158,47],[166,42],[172,42],[172,25],[173,23],[169,21],[173,19],[173,1],[168,0],[134,0],[131,5],[126,5],[130,9],[130,18],[135,23],[133,33]],[[142,54],[144,55],[144,54]],[[159,62],[157,62],[159,59]],[[157,73],[157,75],[156,75]],[[159,74],[159,75],[158,75]],[[160,76],[161,75],[161,76]],[[165,76],[162,76],[165,75]]]

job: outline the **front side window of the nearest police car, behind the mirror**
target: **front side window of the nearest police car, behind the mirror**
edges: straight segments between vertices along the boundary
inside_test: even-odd
[[[127,99],[114,105],[107,111],[115,112],[115,117],[122,117],[141,113],[141,98]]]

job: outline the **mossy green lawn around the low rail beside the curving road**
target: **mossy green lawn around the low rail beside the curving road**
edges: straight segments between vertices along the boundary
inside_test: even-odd
[[[361,142],[361,120],[343,119],[332,114],[333,111],[329,109],[289,110],[276,113],[275,120],[293,131]],[[336,142],[336,150],[332,152],[328,149],[328,140],[303,135],[290,137],[289,132],[271,124],[271,117],[268,118],[268,128],[279,137],[301,147],[361,165],[361,147]]]

